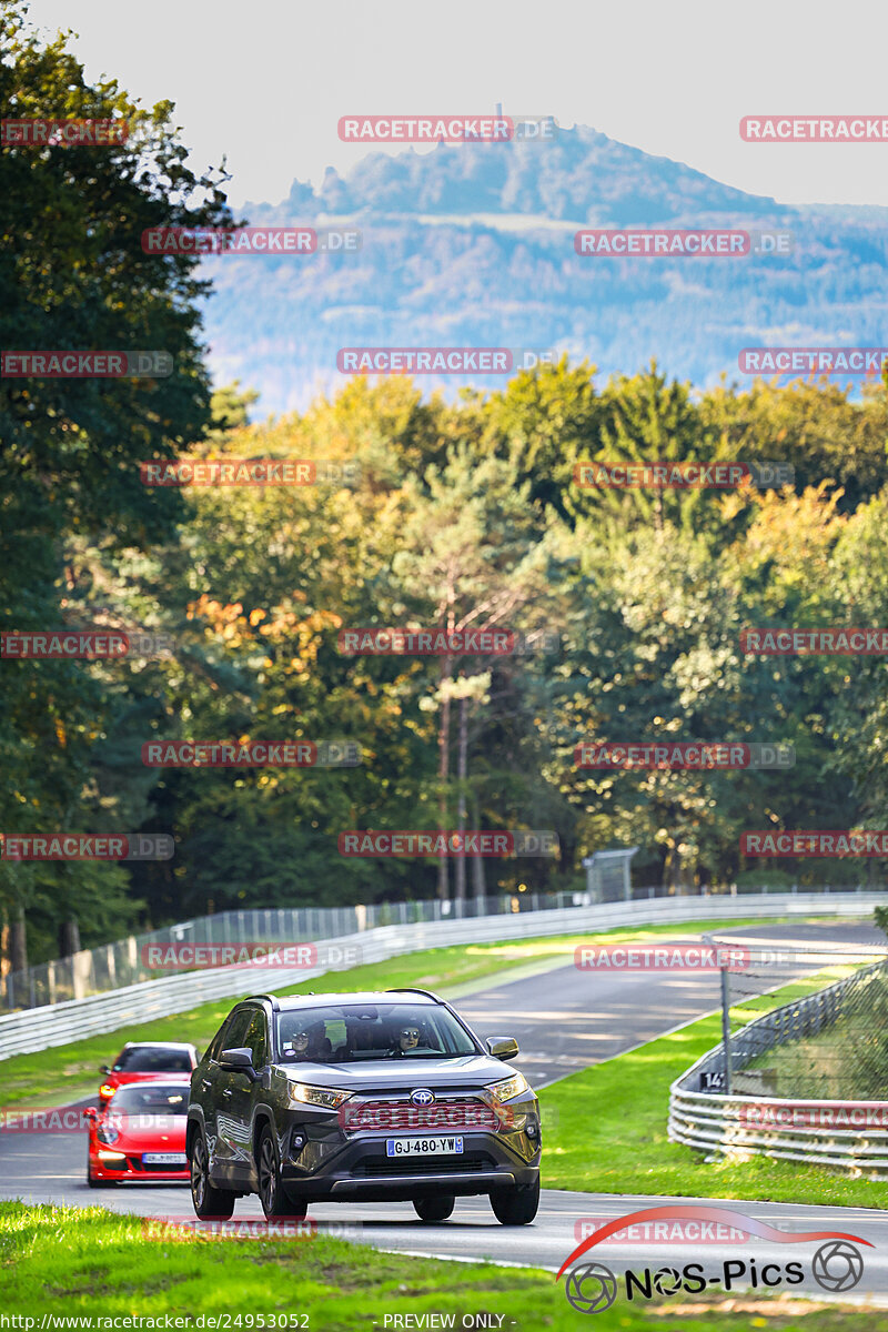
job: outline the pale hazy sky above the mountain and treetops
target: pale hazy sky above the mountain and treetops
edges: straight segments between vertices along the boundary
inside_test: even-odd
[[[192,165],[228,156],[236,208],[365,156],[339,116],[497,103],[785,202],[888,205],[888,144],[738,129],[759,112],[888,115],[883,0],[33,0],[31,17],[80,32],[89,79],[172,99]]]

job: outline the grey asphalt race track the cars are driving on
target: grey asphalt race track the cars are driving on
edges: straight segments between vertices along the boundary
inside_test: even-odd
[[[781,947],[789,940],[804,940],[808,946],[825,940],[833,944],[868,944],[877,943],[880,938],[868,924],[844,920],[835,924],[792,923],[719,931],[719,936],[728,935],[780,940]],[[691,942],[699,936],[682,931],[676,938]],[[805,970],[804,964],[796,964],[795,968],[780,968],[779,975],[772,975],[763,968],[762,975],[746,978],[746,992],[770,990],[784,983],[791,974],[797,975]],[[521,980],[475,990],[471,995],[457,999],[455,1004],[481,1036],[517,1036],[522,1056],[514,1062],[515,1067],[521,1067],[534,1086],[542,1087],[576,1068],[598,1063],[711,1012],[719,1004],[719,982],[715,974],[606,975],[578,971],[572,964],[559,964],[545,972],[525,975]],[[594,1126],[594,1107],[590,1107],[590,1124]],[[185,1185],[95,1191],[85,1183],[85,1158],[83,1132],[0,1134],[0,1199],[69,1203],[79,1207],[101,1204],[118,1212],[193,1223],[190,1196]],[[600,1224],[603,1219],[623,1216],[644,1207],[663,1207],[668,1201],[662,1196],[630,1197],[545,1189],[535,1223],[515,1228],[498,1224],[486,1197],[458,1200],[453,1219],[442,1224],[419,1221],[413,1207],[405,1203],[318,1204],[309,1209],[309,1217],[317,1221],[318,1231],[329,1227],[332,1233],[343,1233],[386,1249],[463,1260],[489,1257],[555,1272],[579,1243],[582,1233],[578,1232],[578,1224],[583,1217],[595,1217]],[[691,1200],[680,1201],[687,1205]],[[861,1299],[872,1292],[888,1297],[888,1212],[783,1203],[732,1204],[724,1199],[692,1201],[708,1201],[715,1208],[734,1208],[777,1229],[843,1231],[871,1240],[875,1249],[861,1248],[864,1276],[844,1297]],[[238,1200],[236,1221],[261,1216],[258,1197]],[[817,1241],[787,1244],[784,1249],[776,1241],[766,1243],[752,1237],[735,1237],[730,1243],[714,1237],[712,1243],[702,1244],[699,1239],[695,1243],[675,1243],[663,1232],[660,1236],[662,1240],[656,1243],[648,1237],[638,1243],[611,1241],[596,1245],[579,1261],[604,1263],[616,1273],[626,1267],[635,1271],[646,1267],[658,1269],[663,1265],[680,1268],[684,1263],[698,1261],[704,1265],[707,1280],[716,1285],[723,1263],[746,1261],[748,1267],[755,1259],[762,1268],[768,1263],[797,1260],[805,1273],[804,1281],[781,1289],[796,1295],[824,1296],[811,1272]],[[742,1277],[736,1277],[736,1281],[739,1287],[748,1284]]]

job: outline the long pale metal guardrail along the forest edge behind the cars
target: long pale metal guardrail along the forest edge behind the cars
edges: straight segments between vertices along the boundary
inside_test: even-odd
[[[865,916],[873,906],[884,903],[884,892],[848,892],[831,898],[833,912]],[[811,915],[823,907],[817,892],[768,892],[744,896],[651,898],[643,902],[602,903],[545,911],[521,911],[510,915],[474,916],[462,920],[433,920],[407,926],[382,926],[330,943],[339,946],[339,964],[276,968],[274,990],[302,980],[339,971],[353,964],[349,947],[359,950],[362,962],[383,962],[422,948],[439,948],[461,943],[497,943],[507,939],[543,938],[612,930],[619,926],[643,926],[658,922],[682,924],[692,920],[731,920],[738,916]],[[185,1012],[216,999],[265,991],[269,970],[260,964],[222,967],[165,976],[136,986],[126,986],[87,999],[31,1008],[0,1018],[0,1060],[11,1055],[31,1054],[51,1046],[65,1046],[132,1023],[149,1022]]]

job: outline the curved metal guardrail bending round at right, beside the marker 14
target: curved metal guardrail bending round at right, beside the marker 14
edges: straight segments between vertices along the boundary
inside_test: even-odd
[[[840,1016],[868,978],[885,975],[877,962],[804,999],[775,1008],[731,1034],[732,1083],[766,1050],[816,1035]],[[703,1091],[704,1075],[724,1075],[724,1043],[707,1051],[670,1087],[668,1136],[712,1156],[751,1155],[843,1166],[857,1175],[888,1171],[888,1100],[828,1100],[762,1096],[735,1090]],[[747,1079],[750,1075],[747,1074]]]

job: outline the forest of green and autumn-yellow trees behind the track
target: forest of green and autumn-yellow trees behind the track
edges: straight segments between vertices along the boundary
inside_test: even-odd
[[[881,882],[883,862],[744,860],[746,829],[885,827],[879,657],[744,655],[740,630],[888,626],[888,380],[696,392],[656,365],[543,366],[486,394],[349,384],[250,425],[212,393],[186,256],[142,229],[225,225],[172,109],[89,87],[0,8],[0,113],[125,117],[101,153],[4,151],[0,344],[157,348],[158,380],[0,381],[0,629],[162,630],[156,659],[0,662],[0,832],[162,831],[168,862],[0,859],[13,966],[236,906],[576,887],[638,844],[639,883]],[[145,460],[358,464],[354,486],[150,489]],[[783,490],[574,484],[580,460],[780,460]],[[547,630],[549,651],[347,657],[342,627]],[[551,635],[556,635],[556,643]],[[591,738],[780,741],[788,771],[578,770]],[[157,770],[156,738],[346,739],[357,767]],[[465,777],[461,769],[465,766]],[[346,829],[553,829],[554,860],[345,859]],[[483,882],[482,882],[483,880]]]

